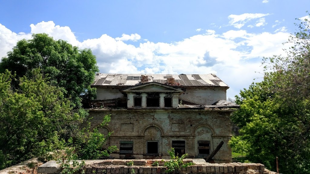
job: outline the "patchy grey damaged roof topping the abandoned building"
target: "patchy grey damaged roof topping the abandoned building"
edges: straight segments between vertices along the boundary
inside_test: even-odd
[[[97,85],[139,85],[141,75],[148,76],[149,82],[166,84],[168,78],[175,79],[175,85],[178,86],[226,86],[215,74],[101,74],[97,73],[95,82]]]

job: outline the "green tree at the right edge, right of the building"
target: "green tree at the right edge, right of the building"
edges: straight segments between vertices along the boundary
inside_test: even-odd
[[[281,173],[310,173],[310,25],[297,26],[287,56],[263,59],[263,82],[236,96],[241,108],[232,115],[247,158],[275,170],[277,156]]]

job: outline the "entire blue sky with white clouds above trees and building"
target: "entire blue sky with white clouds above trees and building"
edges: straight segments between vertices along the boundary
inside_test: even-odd
[[[210,74],[234,98],[286,55],[309,0],[0,0],[0,59],[47,33],[97,57],[101,73]]]

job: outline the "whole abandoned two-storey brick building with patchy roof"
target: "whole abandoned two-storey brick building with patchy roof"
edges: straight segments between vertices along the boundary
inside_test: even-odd
[[[169,159],[179,155],[207,158],[217,145],[215,162],[231,162],[230,113],[238,108],[226,102],[229,88],[215,74],[100,74],[92,87],[97,100],[89,102],[91,128],[113,132],[104,146],[120,159]],[[99,127],[104,115],[111,122]]]

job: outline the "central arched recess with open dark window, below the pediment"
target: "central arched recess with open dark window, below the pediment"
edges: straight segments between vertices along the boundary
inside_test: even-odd
[[[142,133],[145,142],[143,153],[155,156],[162,154],[162,128],[157,124],[148,124],[142,129]]]

